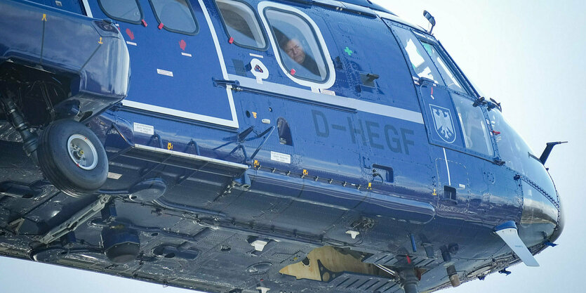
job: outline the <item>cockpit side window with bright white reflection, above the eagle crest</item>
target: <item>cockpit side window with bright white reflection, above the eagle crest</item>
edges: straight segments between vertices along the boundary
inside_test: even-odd
[[[435,65],[432,63],[432,60],[429,59],[429,56],[425,53],[425,48],[421,46],[415,35],[401,27],[395,27],[394,31],[397,32],[397,37],[402,44],[401,46],[403,46],[407,52],[407,56],[413,70],[415,70],[415,74],[417,74],[418,77],[432,79],[437,84],[444,85]]]

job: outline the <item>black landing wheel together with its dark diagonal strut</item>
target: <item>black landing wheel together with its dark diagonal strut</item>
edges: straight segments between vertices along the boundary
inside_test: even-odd
[[[48,124],[39,138],[10,91],[0,93],[0,106],[22,137],[27,156],[56,188],[72,197],[82,197],[104,185],[108,176],[106,151],[88,127],[72,119],[60,119]]]

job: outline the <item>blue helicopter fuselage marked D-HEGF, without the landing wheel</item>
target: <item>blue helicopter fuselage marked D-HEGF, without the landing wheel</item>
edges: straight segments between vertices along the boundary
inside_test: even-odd
[[[418,287],[434,290],[453,275],[484,278],[519,263],[494,233],[503,223],[516,223],[531,254],[561,233],[552,179],[500,104],[481,97],[431,34],[369,1],[35,2],[0,6],[22,19],[45,15],[37,25],[47,27],[95,21],[100,36],[114,36],[84,39],[92,42],[85,46],[74,42],[83,37],[75,25],[39,33],[55,44],[47,71],[75,76],[92,63],[60,64],[59,54],[91,55],[124,38],[127,58],[112,45],[79,77],[95,86],[67,98],[81,100],[87,114],[73,119],[105,147],[109,174],[100,193],[112,200],[64,240],[48,231],[96,197],[51,185],[34,200],[5,195],[3,230],[22,225],[0,236],[1,254],[209,292],[413,292],[403,271],[415,270]],[[229,13],[242,13],[240,25],[251,27],[239,30]],[[27,46],[6,45],[20,38],[7,23],[0,18],[0,65],[39,64]],[[285,39],[291,27],[295,38]],[[72,42],[62,41],[67,36]],[[304,61],[288,48],[292,40]],[[100,46],[93,53],[105,52]],[[126,59],[128,89],[102,82]],[[10,127],[1,131],[4,164],[13,168],[4,170],[21,171],[0,171],[0,182],[42,181],[31,162],[13,163],[22,145]],[[112,223],[126,228],[116,234]],[[37,236],[67,243],[31,251]],[[102,249],[112,238],[140,241],[140,254],[111,266]],[[322,247],[371,273],[325,258],[304,263],[319,266],[319,278],[293,269]]]

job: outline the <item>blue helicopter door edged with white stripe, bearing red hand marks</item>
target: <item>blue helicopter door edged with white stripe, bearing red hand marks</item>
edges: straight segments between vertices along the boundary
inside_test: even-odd
[[[132,81],[123,105],[150,115],[238,127],[232,89],[204,1],[93,3],[128,44]],[[151,5],[152,2],[152,5]],[[100,13],[100,15],[98,15]]]

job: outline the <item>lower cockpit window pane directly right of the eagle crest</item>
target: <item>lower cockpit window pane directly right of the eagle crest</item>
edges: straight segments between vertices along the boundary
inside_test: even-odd
[[[478,106],[474,107],[472,100],[455,94],[452,96],[466,148],[493,157],[493,145],[488,136],[488,127],[482,109]]]

